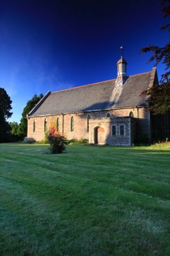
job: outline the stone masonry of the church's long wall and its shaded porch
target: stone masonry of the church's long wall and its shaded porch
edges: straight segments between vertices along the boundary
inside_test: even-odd
[[[133,112],[134,118],[137,120],[137,131],[141,134],[150,134],[150,115],[145,108],[126,108],[126,109],[110,109],[96,112],[86,113],[69,113],[59,115],[46,115],[43,117],[30,117],[28,118],[28,138],[35,139],[36,141],[42,141],[45,138],[44,121],[46,119],[46,130],[50,127],[56,127],[57,118],[59,118],[59,132],[63,134],[67,139],[88,139],[90,143],[94,143],[94,129],[95,125],[102,123],[106,133],[105,143],[107,144],[126,144],[129,145],[133,142],[130,141],[130,125],[131,122],[125,119],[117,119],[116,117],[129,117],[130,112]],[[111,118],[106,118],[107,114],[111,115]],[[90,115],[90,131],[87,131],[87,116]],[[74,118],[74,130],[71,131],[71,117]],[[96,121],[95,121],[96,118]],[[112,121],[111,121],[112,120]],[[36,129],[33,131],[33,122],[36,123]],[[111,135],[112,123],[117,122],[125,124],[126,138],[113,138]],[[130,122],[128,125],[127,122]],[[98,126],[100,126],[98,124]],[[124,141],[124,142],[122,142]],[[134,141],[134,135],[133,139]]]

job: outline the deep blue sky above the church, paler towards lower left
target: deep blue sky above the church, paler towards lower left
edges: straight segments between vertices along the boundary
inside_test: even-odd
[[[27,101],[117,77],[120,46],[128,76],[151,71],[148,45],[164,46],[168,23],[157,0],[1,0],[0,87],[19,122]],[[164,65],[157,66],[160,79]],[[135,89],[135,88],[134,88]]]

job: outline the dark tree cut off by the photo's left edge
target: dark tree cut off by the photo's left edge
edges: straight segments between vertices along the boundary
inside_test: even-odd
[[[10,135],[10,126],[6,119],[10,118],[12,112],[11,99],[4,88],[0,88],[0,142],[7,142]]]

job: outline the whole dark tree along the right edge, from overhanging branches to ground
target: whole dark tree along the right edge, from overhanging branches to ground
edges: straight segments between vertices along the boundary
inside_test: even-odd
[[[164,6],[166,4],[166,6]],[[163,16],[164,18],[170,15],[170,0],[162,0],[160,3],[163,6]],[[170,23],[165,24],[162,30],[168,28],[170,32]],[[145,90],[141,93],[149,96],[150,105],[148,110],[151,111],[152,115],[152,133],[156,140],[158,138],[168,138],[170,137],[170,43],[168,42],[163,47],[159,46],[148,46],[141,49],[143,52],[153,52],[153,55],[148,60],[148,63],[155,61],[155,65],[163,62],[165,65],[165,72],[162,74],[160,84],[155,84],[152,88]]]

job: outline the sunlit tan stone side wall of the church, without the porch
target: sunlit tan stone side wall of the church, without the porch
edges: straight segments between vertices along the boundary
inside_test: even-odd
[[[91,119],[105,118],[107,113],[110,113],[111,117],[115,118],[129,117],[130,112],[133,112],[134,117],[138,118],[137,133],[145,133],[150,136],[150,113],[146,112],[145,108],[127,108],[97,112],[47,115],[44,117],[28,117],[28,138],[41,141],[45,137],[44,120],[46,119],[47,130],[49,130],[50,127],[56,127],[56,121],[57,118],[59,118],[59,131],[63,133],[67,139],[89,139],[89,132],[87,131],[87,116],[89,114],[91,115]],[[74,131],[71,131],[72,116],[74,117]],[[33,131],[34,120],[36,122],[35,131]]]

